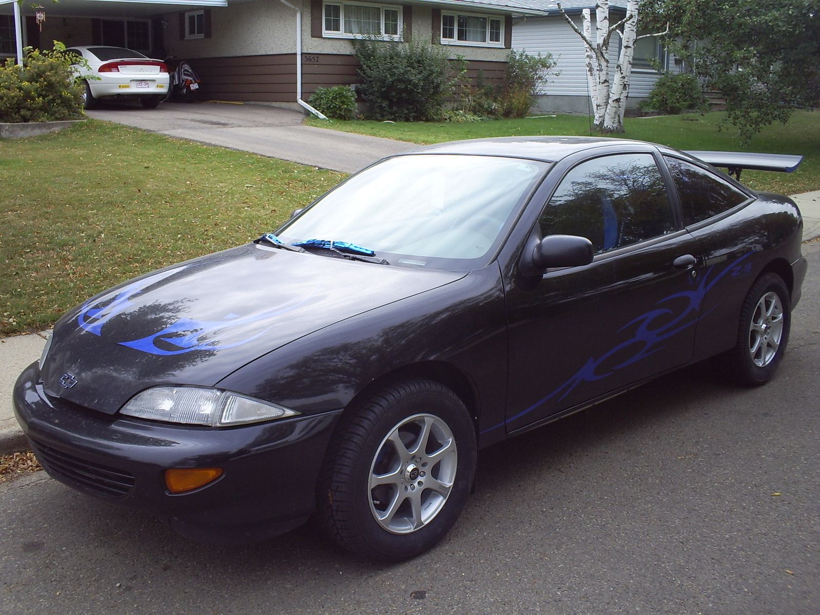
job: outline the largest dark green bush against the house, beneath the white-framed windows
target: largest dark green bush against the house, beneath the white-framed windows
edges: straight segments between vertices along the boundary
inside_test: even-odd
[[[408,43],[353,42],[361,84],[358,93],[374,120],[426,121],[441,114],[453,88],[445,48]]]

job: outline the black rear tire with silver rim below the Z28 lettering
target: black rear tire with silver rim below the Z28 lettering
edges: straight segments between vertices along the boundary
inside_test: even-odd
[[[735,348],[713,363],[740,385],[765,385],[786,352],[791,326],[791,298],[781,276],[766,273],[754,281],[740,309]]]

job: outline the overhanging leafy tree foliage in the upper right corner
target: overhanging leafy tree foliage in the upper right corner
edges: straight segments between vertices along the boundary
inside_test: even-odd
[[[817,0],[647,0],[645,10],[644,27],[671,23],[676,53],[721,91],[747,141],[820,98]]]

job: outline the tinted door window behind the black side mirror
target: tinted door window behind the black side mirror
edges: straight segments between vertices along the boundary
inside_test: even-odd
[[[620,154],[569,171],[544,207],[541,234],[581,235],[604,252],[675,230],[663,177],[651,154]]]

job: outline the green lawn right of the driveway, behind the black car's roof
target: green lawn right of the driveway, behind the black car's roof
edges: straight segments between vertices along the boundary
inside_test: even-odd
[[[782,194],[798,194],[820,189],[820,113],[795,112],[787,125],[772,125],[744,147],[731,127],[717,131],[723,113],[705,116],[686,114],[640,119],[627,118],[626,139],[640,139],[670,145],[678,149],[711,149],[722,151],[801,154],[800,168],[791,174],[744,171],[741,179],[758,190]],[[590,121],[585,116],[527,117],[522,120],[479,122],[397,122],[327,121],[312,118],[310,125],[347,132],[372,134],[377,137],[401,139],[417,144],[435,144],[458,139],[507,137],[517,134],[590,134]]]

